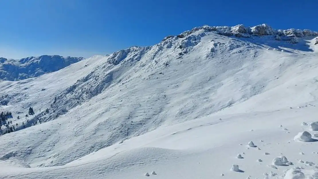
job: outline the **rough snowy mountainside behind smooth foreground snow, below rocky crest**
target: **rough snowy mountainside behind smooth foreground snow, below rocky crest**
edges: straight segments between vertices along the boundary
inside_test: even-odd
[[[294,91],[295,85],[301,86],[297,78],[306,83],[308,93],[298,103],[282,95],[284,103],[276,109],[307,105],[317,95],[317,56],[314,36],[310,38],[297,37],[292,43],[275,40],[274,34],[244,38],[202,27],[183,38],[85,59],[37,78],[1,82],[0,95],[7,102],[0,109],[13,112],[13,124],[28,127],[6,135],[19,139],[22,131],[30,130],[40,138],[28,145],[33,153],[27,150],[6,160],[22,160],[31,167],[65,165],[159,127],[231,108],[236,113],[252,109],[240,104],[275,88]],[[28,107],[36,114],[16,119]],[[257,110],[265,109],[273,110],[270,105]],[[9,146],[0,148],[4,154],[25,148],[23,142],[0,142]]]

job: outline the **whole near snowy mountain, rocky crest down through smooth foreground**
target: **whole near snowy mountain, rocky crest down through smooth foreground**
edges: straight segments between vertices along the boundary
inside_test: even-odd
[[[17,131],[0,136],[0,176],[278,178],[293,166],[309,175],[318,143],[293,140],[305,130],[315,137],[317,35],[203,26],[3,81],[0,111],[13,118],[2,131]],[[280,155],[294,165],[273,165]]]

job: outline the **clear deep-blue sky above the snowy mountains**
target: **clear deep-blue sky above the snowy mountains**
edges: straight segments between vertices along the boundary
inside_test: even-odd
[[[195,26],[318,31],[317,0],[2,0],[0,57],[109,54]]]

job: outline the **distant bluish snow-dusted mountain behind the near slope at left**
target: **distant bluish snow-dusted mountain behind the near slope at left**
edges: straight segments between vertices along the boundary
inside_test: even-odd
[[[20,60],[0,58],[0,80],[17,81],[58,71],[83,60],[82,57],[43,55]]]

